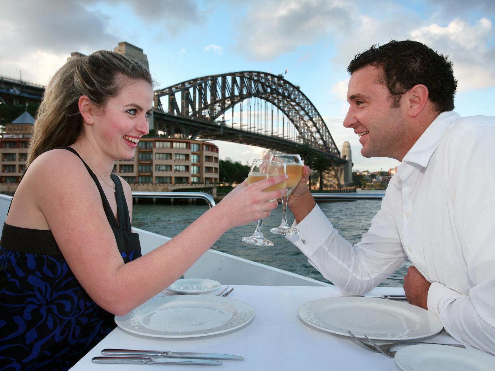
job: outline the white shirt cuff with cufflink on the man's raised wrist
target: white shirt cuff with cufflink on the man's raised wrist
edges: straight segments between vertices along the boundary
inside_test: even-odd
[[[299,233],[287,234],[285,238],[294,243],[307,257],[323,245],[334,229],[318,205],[315,205],[299,224],[294,221],[292,226],[297,228]]]

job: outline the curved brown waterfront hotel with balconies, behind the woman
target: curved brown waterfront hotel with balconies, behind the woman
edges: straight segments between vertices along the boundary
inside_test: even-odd
[[[0,139],[1,184],[18,184],[26,169],[34,118],[24,112]],[[141,138],[132,160],[118,160],[114,173],[131,185],[201,185],[219,183],[218,147],[188,139]],[[10,189],[10,188],[8,188]]]

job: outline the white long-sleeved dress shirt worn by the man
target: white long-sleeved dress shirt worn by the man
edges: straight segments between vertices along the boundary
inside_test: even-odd
[[[495,354],[495,117],[441,113],[404,156],[361,242],[316,205],[292,241],[346,295],[409,258],[432,283],[428,310],[460,342]]]

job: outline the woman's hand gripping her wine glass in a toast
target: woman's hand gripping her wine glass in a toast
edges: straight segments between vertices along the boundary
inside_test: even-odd
[[[270,200],[282,197],[287,193],[287,189],[270,192],[264,192],[264,189],[285,182],[287,179],[289,179],[287,175],[279,175],[251,185],[247,185],[245,180],[227,194],[215,208],[221,209],[221,215],[225,216],[223,222],[229,229],[267,218],[271,210],[277,207],[277,202]]]

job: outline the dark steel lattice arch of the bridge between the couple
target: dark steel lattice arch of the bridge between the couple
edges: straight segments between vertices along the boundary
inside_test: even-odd
[[[181,93],[180,102],[177,101],[176,93]],[[154,118],[158,122],[168,121],[187,127],[194,126],[196,122],[199,126],[195,137],[199,135],[209,139],[230,140],[222,138],[222,136],[227,137],[227,133],[224,132],[229,131],[231,135],[233,132],[241,132],[238,133],[239,136],[243,133],[255,134],[248,130],[229,128],[223,121],[219,122],[219,118],[226,111],[251,97],[263,99],[276,106],[296,129],[297,138],[294,138],[292,143],[285,143],[285,148],[290,147],[290,144],[294,147],[297,144],[307,143],[316,152],[324,153],[336,162],[344,162],[316,107],[298,86],[285,80],[282,75],[257,71],[232,72],[200,77],[157,90],[154,93]],[[163,110],[163,99],[168,103],[167,112]],[[210,127],[201,123],[207,123]],[[213,128],[217,129],[217,133],[211,130],[212,124]],[[282,148],[284,144],[282,142],[287,139],[273,135],[273,113],[271,134],[262,136],[265,137],[264,143],[271,141],[273,145],[269,147]],[[260,139],[261,135],[257,137]],[[256,143],[249,144],[256,145]]]

